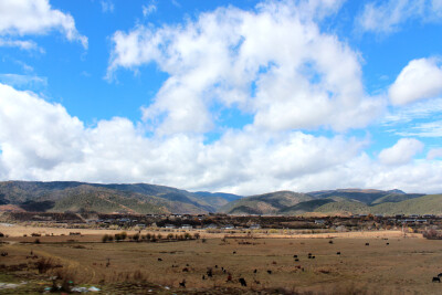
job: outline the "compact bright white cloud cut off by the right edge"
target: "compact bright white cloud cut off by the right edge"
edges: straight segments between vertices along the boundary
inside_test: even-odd
[[[442,67],[436,59],[412,60],[389,89],[391,103],[404,105],[442,94]]]

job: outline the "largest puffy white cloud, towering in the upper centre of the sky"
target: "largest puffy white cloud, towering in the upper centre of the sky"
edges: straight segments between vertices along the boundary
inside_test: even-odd
[[[340,2],[269,1],[254,11],[219,8],[185,24],[117,31],[108,77],[147,63],[169,74],[144,108],[160,134],[210,130],[213,104],[253,114],[266,130],[362,127],[382,102],[365,94],[358,53],[315,22]]]

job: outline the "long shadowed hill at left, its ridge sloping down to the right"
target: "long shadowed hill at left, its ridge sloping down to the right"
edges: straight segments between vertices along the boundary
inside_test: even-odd
[[[147,183],[0,182],[0,206],[19,206],[27,211],[207,213],[217,211],[228,200],[222,197],[203,197],[186,190]]]

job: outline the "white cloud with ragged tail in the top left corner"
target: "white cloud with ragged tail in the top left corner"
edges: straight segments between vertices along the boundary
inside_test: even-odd
[[[0,1],[0,36],[46,34],[51,30],[61,31],[67,40],[80,41],[87,49],[87,38],[78,33],[72,15],[52,9],[49,0]],[[32,44],[29,41],[20,40],[11,40],[9,42],[15,42],[21,46],[30,46]]]

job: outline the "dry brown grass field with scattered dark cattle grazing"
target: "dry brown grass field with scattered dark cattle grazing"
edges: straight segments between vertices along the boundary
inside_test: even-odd
[[[20,229],[9,226],[9,230],[12,228],[15,228],[15,233]],[[28,230],[36,232],[42,229]],[[36,260],[27,259],[32,250],[39,259],[52,257],[63,266],[50,270],[46,275],[59,274],[75,284],[98,286],[110,294],[148,293],[146,287],[141,287],[146,282],[154,284],[149,294],[273,293],[275,289],[278,289],[276,293],[294,294],[442,294],[442,284],[431,282],[433,276],[442,273],[442,241],[403,238],[399,231],[333,233],[332,244],[326,234],[277,233],[272,238],[255,239],[222,240],[221,234],[208,234],[204,240],[179,242],[101,243],[97,242],[101,236],[109,232],[43,231],[46,230],[49,232],[44,234],[61,234],[56,230],[64,230],[67,232],[63,234],[80,231],[83,236],[41,236],[40,244],[20,243],[35,240],[22,238],[23,232],[3,239],[10,242],[0,245],[1,252],[9,253],[1,257],[3,270],[10,270],[11,265],[32,265]],[[2,226],[0,232],[7,233],[6,228]],[[263,233],[256,235],[264,236]],[[66,242],[66,239],[71,241]],[[340,255],[336,254],[338,251]],[[308,259],[308,253],[315,259]],[[295,262],[294,254],[298,255],[298,262]],[[223,273],[221,267],[227,272]],[[185,268],[188,272],[183,272]],[[212,268],[212,277],[207,276],[209,268]],[[18,274],[22,273],[36,274],[36,271],[29,266]],[[228,273],[231,273],[233,282],[227,282]],[[203,275],[206,280],[202,280]],[[246,287],[240,286],[240,277],[246,281]],[[179,287],[183,278],[186,289]],[[117,283],[129,284],[122,288]]]

